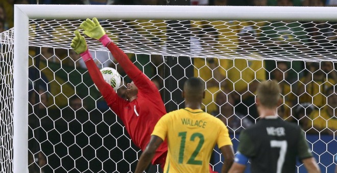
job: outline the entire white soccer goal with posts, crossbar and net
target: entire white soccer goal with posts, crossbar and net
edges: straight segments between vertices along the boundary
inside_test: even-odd
[[[15,27],[0,34],[1,172],[134,171],[140,150],[69,46],[83,19],[92,17],[158,84],[167,111],[184,106],[184,80],[201,77],[202,108],[227,125],[235,151],[240,130],[258,121],[256,84],[277,80],[279,116],[303,128],[322,172],[331,172],[337,153],[336,11],[16,5]],[[99,68],[122,75],[117,94],[125,97],[130,79],[101,43],[86,40]],[[215,170],[221,160],[215,149]]]

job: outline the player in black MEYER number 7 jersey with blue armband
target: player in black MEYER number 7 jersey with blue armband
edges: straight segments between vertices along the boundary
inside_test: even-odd
[[[277,116],[277,107],[281,103],[278,83],[264,81],[258,85],[256,94],[260,120],[240,133],[240,143],[229,172],[244,172],[248,159],[253,173],[295,172],[297,158],[308,172],[320,172],[302,129]]]

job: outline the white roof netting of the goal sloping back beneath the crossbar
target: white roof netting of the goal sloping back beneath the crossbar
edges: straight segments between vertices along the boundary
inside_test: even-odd
[[[73,38],[82,20],[31,20],[30,45],[64,48]],[[300,22],[300,21],[184,21],[178,22],[175,28],[166,30],[168,20],[101,20],[107,34],[118,41],[118,45],[127,52],[144,54],[162,54],[171,56],[191,56],[235,59],[237,51],[256,52],[264,60],[281,61],[335,61],[335,28],[334,22]],[[202,28],[212,28],[217,33],[217,40],[198,40]],[[171,29],[171,30],[170,30]],[[208,31],[213,31],[212,29]],[[38,34],[37,32],[42,32]],[[240,33],[254,34],[254,38],[239,40]],[[165,42],[171,33],[172,42]],[[244,34],[243,33],[243,34]],[[188,38],[186,36],[191,37]],[[175,37],[183,37],[175,40]],[[51,39],[52,38],[52,39]],[[192,40],[192,42],[190,42]],[[239,42],[250,43],[240,47]],[[92,50],[106,50],[97,41],[91,40],[88,45]],[[136,46],[135,46],[136,45]],[[202,48],[201,45],[210,48]],[[170,50],[166,47],[179,47]],[[319,54],[321,57],[316,57]],[[249,55],[245,59],[253,59]]]

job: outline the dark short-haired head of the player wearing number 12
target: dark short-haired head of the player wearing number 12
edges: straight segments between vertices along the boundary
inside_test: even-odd
[[[185,99],[201,101],[205,91],[205,82],[197,77],[191,77],[184,83]]]

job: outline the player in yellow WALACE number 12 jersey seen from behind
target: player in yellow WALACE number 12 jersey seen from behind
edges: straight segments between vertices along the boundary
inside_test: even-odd
[[[204,90],[205,82],[200,78],[191,77],[184,83],[185,108],[166,113],[158,121],[136,173],[146,169],[165,139],[168,151],[164,172],[210,172],[209,159],[216,144],[225,158],[222,172],[229,170],[234,152],[228,129],[220,119],[201,110]]]

